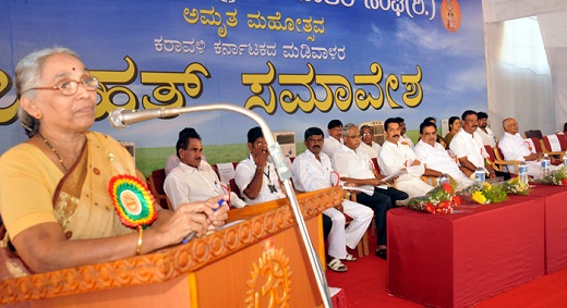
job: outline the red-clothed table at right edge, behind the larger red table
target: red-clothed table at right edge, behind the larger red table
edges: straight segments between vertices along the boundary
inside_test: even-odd
[[[567,187],[535,185],[530,196],[545,202],[545,273],[567,268]]]

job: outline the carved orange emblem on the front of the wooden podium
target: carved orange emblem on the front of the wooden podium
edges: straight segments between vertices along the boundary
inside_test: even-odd
[[[246,307],[289,307],[291,293],[291,267],[284,249],[273,247],[272,237],[264,239],[264,252],[246,282]]]

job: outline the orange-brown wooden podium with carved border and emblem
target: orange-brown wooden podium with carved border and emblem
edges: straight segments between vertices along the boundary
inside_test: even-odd
[[[325,263],[321,212],[341,187],[298,195]],[[229,211],[225,230],[145,256],[0,282],[8,307],[322,307],[287,199]],[[13,306],[12,306],[13,305]]]

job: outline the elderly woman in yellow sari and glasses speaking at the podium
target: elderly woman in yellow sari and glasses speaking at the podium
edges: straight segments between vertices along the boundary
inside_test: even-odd
[[[134,178],[136,170],[118,141],[88,131],[98,79],[73,51],[28,54],[16,66],[15,87],[29,139],[0,158],[0,214],[8,234],[0,247],[21,258],[24,273],[132,257],[225,223],[228,207],[219,208],[225,196],[174,212],[159,209],[143,233],[121,222],[109,183],[118,175]],[[5,251],[0,267],[8,262]],[[7,272],[19,275],[4,270],[0,280]]]

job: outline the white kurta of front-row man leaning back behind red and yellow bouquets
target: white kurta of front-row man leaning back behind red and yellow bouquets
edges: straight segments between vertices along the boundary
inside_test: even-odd
[[[439,143],[435,143],[435,147],[432,147],[420,139],[413,150],[415,151],[418,159],[425,164],[425,168],[447,173],[450,177],[457,181],[459,189],[473,183],[467,174],[460,171],[455,158],[451,158]]]

